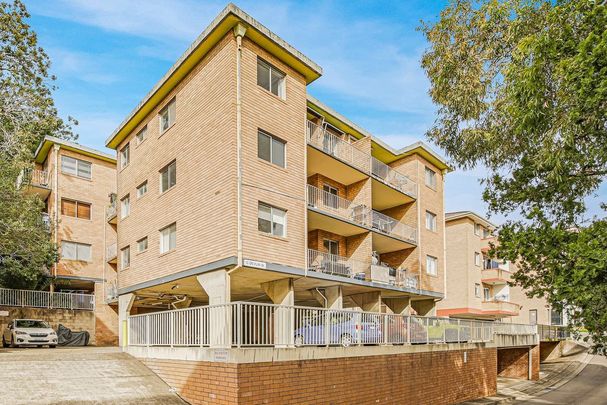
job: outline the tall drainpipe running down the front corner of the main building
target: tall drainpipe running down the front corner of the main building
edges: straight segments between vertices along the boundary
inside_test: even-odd
[[[242,94],[241,94],[241,61],[242,37],[247,28],[242,24],[234,27],[236,37],[236,213],[237,221],[237,267],[242,267]]]

